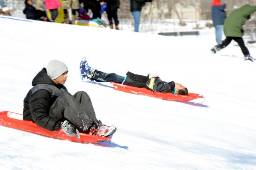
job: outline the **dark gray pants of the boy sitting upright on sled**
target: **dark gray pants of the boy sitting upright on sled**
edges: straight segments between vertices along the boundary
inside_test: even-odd
[[[59,96],[50,108],[49,115],[61,121],[70,121],[83,133],[90,130],[94,121],[99,122],[89,95],[83,91],[74,95],[65,92]]]

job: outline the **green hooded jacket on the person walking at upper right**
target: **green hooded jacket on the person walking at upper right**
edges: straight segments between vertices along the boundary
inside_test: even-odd
[[[233,11],[224,22],[224,35],[226,37],[242,37],[244,35],[243,25],[250,19],[250,14],[256,12],[256,6],[244,5]]]

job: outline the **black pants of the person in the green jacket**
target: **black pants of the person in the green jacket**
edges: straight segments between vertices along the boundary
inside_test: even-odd
[[[249,50],[244,45],[244,40],[242,37],[226,37],[226,39],[218,43],[216,47],[223,49],[230,44],[231,40],[234,40],[238,43],[244,55],[250,55]]]

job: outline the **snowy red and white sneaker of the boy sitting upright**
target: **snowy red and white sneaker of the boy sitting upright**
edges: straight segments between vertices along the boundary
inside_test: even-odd
[[[101,121],[99,121],[99,123],[95,121],[93,122],[93,126],[91,127],[89,134],[108,137],[110,135],[113,135],[113,133],[115,132],[116,132],[115,126],[107,126],[105,124],[102,124]]]

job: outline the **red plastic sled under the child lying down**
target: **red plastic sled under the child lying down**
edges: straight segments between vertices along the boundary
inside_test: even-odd
[[[204,102],[204,96],[198,95],[195,93],[188,93],[188,95],[174,95],[170,92],[169,93],[152,92],[151,90],[148,90],[145,88],[127,86],[127,85],[114,83],[114,82],[111,82],[111,83],[113,84],[115,90],[131,93],[131,94],[145,95],[153,98],[161,98],[163,100],[168,100],[168,101],[191,101],[194,99],[202,98]]]

